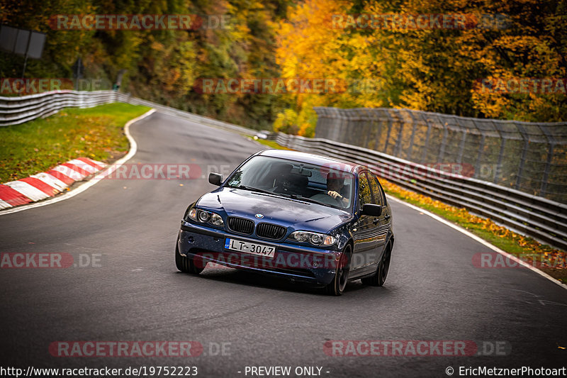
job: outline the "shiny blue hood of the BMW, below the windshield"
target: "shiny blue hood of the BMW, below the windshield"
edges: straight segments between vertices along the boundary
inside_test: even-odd
[[[255,223],[276,223],[294,230],[320,233],[327,233],[352,217],[347,211],[329,206],[233,188],[220,188],[205,194],[196,205],[225,212],[227,216],[249,218]],[[262,214],[263,218],[257,218],[256,214]]]

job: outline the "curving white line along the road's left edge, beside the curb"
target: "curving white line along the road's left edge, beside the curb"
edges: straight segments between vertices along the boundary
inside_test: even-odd
[[[146,118],[147,116],[150,116],[154,112],[155,112],[155,109],[150,109],[146,113],[143,113],[141,116],[134,118],[133,120],[128,121],[124,125],[124,133],[126,135],[126,138],[128,138],[128,142],[130,142],[130,151],[128,151],[128,154],[126,154],[120,160],[116,160],[116,162],[114,162],[114,164],[111,165],[111,167],[119,167],[120,165],[123,165],[125,162],[130,160],[130,158],[135,155],[135,153],[137,151],[137,144],[136,144],[136,141],[134,140],[134,138],[132,138],[132,135],[130,135],[130,125],[135,123],[136,121],[140,121],[143,118]],[[95,177],[90,179],[88,182],[85,182],[80,187],[77,187],[76,189],[73,189],[72,191],[69,191],[68,193],[63,194],[62,196],[57,196],[55,198],[48,199],[47,201],[36,202],[35,204],[23,205],[23,206],[15,207],[13,209],[0,211],[0,216],[3,216],[5,214],[17,213],[18,211],[33,209],[35,207],[55,204],[56,202],[64,201],[65,199],[69,199],[71,197],[77,196],[77,194],[81,194],[83,191],[85,191],[86,189],[89,189],[94,184],[101,181],[101,179],[106,177],[107,171],[108,171],[108,169],[97,174]]]

